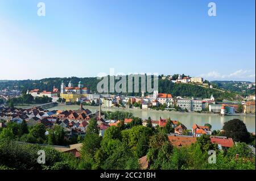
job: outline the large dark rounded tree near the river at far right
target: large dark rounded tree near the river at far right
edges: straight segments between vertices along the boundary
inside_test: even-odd
[[[224,130],[224,136],[232,138],[236,142],[250,141],[250,133],[247,131],[245,123],[239,119],[233,119],[226,123],[222,128]]]

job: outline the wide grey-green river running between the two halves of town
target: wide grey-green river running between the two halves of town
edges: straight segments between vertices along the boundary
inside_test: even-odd
[[[83,106],[89,109],[93,113],[98,110],[95,106]],[[48,110],[78,110],[77,105],[58,105]],[[209,123],[212,125],[212,130],[221,129],[226,121],[232,119],[240,119],[246,124],[247,130],[249,132],[255,132],[255,115],[234,115],[234,116],[219,116],[210,113],[192,113],[192,112],[169,112],[169,111],[156,111],[156,110],[140,110],[140,109],[123,109],[123,108],[104,108],[103,111],[126,111],[133,113],[134,116],[141,117],[142,119],[147,119],[151,117],[152,120],[159,120],[160,117],[171,120],[177,120],[183,123],[188,129],[192,128],[193,124],[204,125]]]

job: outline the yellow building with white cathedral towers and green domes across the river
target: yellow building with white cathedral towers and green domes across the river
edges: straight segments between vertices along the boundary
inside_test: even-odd
[[[66,102],[77,102],[81,98],[86,98],[87,96],[87,88],[83,87],[81,81],[77,87],[73,87],[72,82],[70,81],[68,87],[65,86],[65,83],[61,82],[60,87],[60,98],[66,100]]]

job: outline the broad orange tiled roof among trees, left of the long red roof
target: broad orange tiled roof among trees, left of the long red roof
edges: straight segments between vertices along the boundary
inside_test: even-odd
[[[192,143],[196,142],[195,137],[187,137],[187,136],[168,136],[172,145],[176,147],[180,146],[190,146]]]

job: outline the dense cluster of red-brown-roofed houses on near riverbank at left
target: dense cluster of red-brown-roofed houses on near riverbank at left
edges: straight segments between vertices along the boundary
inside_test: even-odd
[[[44,124],[47,129],[51,129],[57,124],[64,128],[65,135],[69,139],[73,136],[83,137],[92,118],[97,120],[100,136],[103,136],[109,127],[104,121],[104,114],[100,110],[92,113],[90,110],[82,108],[82,105],[76,111],[47,111],[36,107],[31,109],[3,107],[0,112],[0,126],[5,127],[9,122],[20,124],[23,120],[28,126]]]

